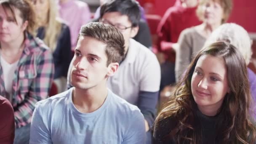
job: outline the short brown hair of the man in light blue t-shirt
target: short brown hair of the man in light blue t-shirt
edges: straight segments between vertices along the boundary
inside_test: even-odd
[[[90,22],[81,27],[80,36],[93,37],[105,43],[107,54],[107,66],[112,62],[120,62],[124,58],[125,40],[121,32],[109,24]]]

